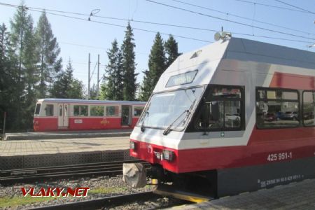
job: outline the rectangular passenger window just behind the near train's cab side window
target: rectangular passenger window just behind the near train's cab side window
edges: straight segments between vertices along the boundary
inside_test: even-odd
[[[258,128],[297,127],[300,125],[297,90],[258,87],[256,125]]]

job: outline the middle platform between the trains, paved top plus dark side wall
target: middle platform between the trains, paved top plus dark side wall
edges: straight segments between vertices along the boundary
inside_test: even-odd
[[[131,160],[130,137],[0,141],[0,169]]]

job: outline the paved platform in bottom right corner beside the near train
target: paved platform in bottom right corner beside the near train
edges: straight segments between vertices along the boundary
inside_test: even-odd
[[[315,179],[172,209],[315,209]]]

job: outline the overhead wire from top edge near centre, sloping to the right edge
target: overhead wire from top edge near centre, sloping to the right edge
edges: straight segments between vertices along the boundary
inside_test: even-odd
[[[246,27],[253,27],[255,29],[261,29],[261,30],[264,30],[264,31],[270,31],[270,32],[278,33],[278,34],[287,35],[287,36],[295,36],[295,37],[299,37],[299,38],[306,38],[306,39],[315,41],[315,38],[309,38],[309,37],[306,37],[306,36],[290,34],[290,33],[286,33],[286,32],[283,32],[283,31],[276,31],[274,29],[267,29],[267,28],[264,28],[264,27],[258,27],[258,26],[254,26],[254,25],[249,25],[249,24],[246,24],[244,22],[238,22],[238,21],[235,21],[235,20],[228,20],[228,19],[225,19],[225,18],[219,18],[219,17],[216,17],[214,15],[207,15],[207,14],[204,14],[204,13],[196,12],[194,10],[188,10],[188,9],[185,9],[185,8],[180,8],[178,6],[172,6],[172,5],[169,5],[167,3],[160,3],[158,1],[153,1],[153,0],[146,0],[146,1],[151,2],[151,3],[155,3],[155,4],[159,4],[159,5],[162,5],[162,6],[166,6],[166,7],[169,7],[169,8],[174,8],[176,10],[182,10],[182,11],[186,11],[188,13],[193,13],[193,14],[196,14],[196,15],[202,15],[204,17],[214,18],[216,20],[223,20],[223,21],[226,21],[226,22],[232,22],[232,23],[235,23],[237,25],[243,25],[243,26],[246,26]]]

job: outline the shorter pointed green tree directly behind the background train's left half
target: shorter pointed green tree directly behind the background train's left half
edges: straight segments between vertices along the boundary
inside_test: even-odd
[[[66,70],[61,71],[50,90],[51,97],[61,99],[83,99],[83,84],[73,78],[73,67],[69,60]]]

